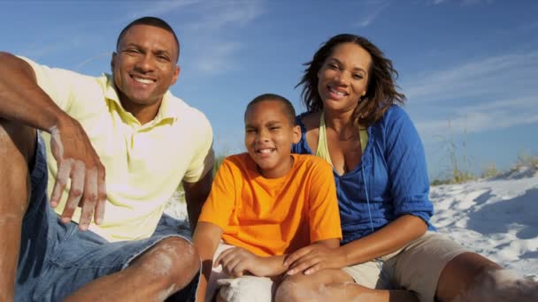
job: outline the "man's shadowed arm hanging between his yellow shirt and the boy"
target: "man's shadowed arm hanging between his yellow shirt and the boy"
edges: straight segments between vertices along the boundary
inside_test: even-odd
[[[183,181],[183,190],[185,190],[185,201],[187,202],[188,223],[190,230],[196,229],[198,217],[202,211],[205,200],[211,192],[211,183],[213,175],[211,170],[207,171],[204,177],[200,178],[196,183],[188,183]]]

